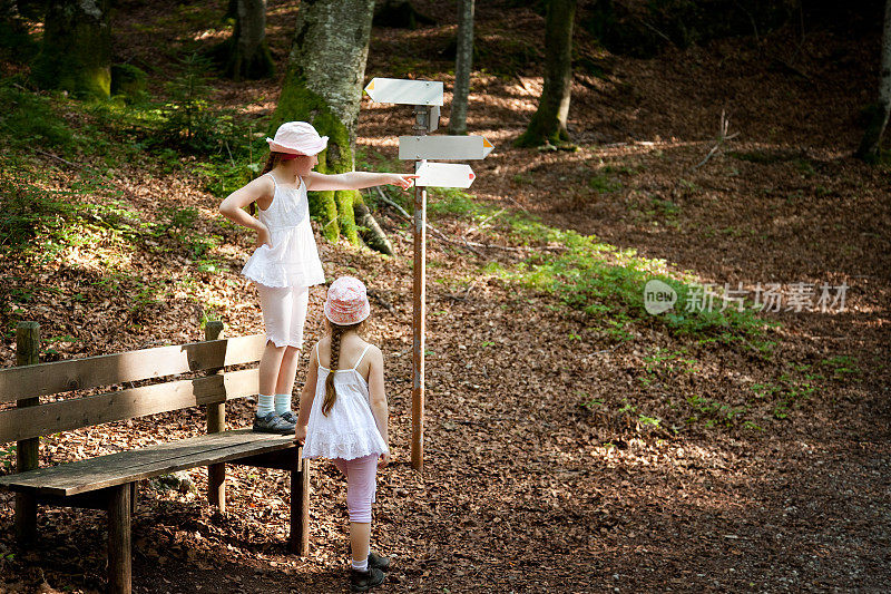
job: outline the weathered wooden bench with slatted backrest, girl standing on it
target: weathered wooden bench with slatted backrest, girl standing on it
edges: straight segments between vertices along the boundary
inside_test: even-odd
[[[225,402],[257,391],[256,369],[227,368],[258,361],[265,337],[219,339],[222,329],[221,322],[208,322],[204,342],[38,363],[39,325],[19,324],[20,367],[0,370],[0,408],[7,403],[0,410],[0,444],[17,441],[18,473],[0,477],[0,488],[16,491],[16,533],[21,544],[37,536],[38,505],[107,509],[109,591],[130,592],[130,515],[137,483],[207,466],[208,499],[225,513],[225,465],[233,464],[291,471],[287,548],[307,554],[310,468],[293,436],[225,430]],[[190,373],[188,379],[184,373]],[[130,382],[145,384],[49,398]],[[195,406],[206,409],[207,435],[38,468],[41,436]]]

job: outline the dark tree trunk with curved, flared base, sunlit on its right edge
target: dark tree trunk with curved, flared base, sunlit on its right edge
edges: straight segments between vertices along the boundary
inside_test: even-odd
[[[572,90],[572,26],[576,0],[548,0],[545,17],[545,87],[529,127],[518,146],[569,142],[566,118]]]

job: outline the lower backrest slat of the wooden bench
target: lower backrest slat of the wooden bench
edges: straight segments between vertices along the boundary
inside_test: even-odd
[[[0,444],[253,396],[256,369],[130,388],[0,412]]]

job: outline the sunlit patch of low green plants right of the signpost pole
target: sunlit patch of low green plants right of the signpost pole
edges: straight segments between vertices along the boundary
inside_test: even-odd
[[[704,301],[706,293],[696,277],[672,270],[664,260],[640,256],[594,235],[551,227],[527,214],[501,213],[458,189],[431,192],[428,210],[433,218],[449,215],[476,223],[493,221],[493,235],[528,247],[528,255],[511,265],[489,263],[489,273],[556,295],[617,340],[629,339],[635,324],[659,324],[699,343],[738,344],[763,354],[773,348],[765,332],[770,322],[745,304],[742,311],[736,302],[722,306],[719,294],[713,295],[711,303]],[[672,310],[657,315],[646,311],[644,288],[652,280],[675,291],[677,301]]]

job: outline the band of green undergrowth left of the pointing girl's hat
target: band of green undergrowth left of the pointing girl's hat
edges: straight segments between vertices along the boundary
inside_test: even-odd
[[[19,155],[38,153],[74,166],[187,168],[204,174],[215,194],[232,192],[261,167],[267,121],[216,107],[206,68],[194,56],[182,60],[164,97],[138,103],[124,97],[78,101],[35,91],[26,79],[10,77],[0,81],[0,143]]]

